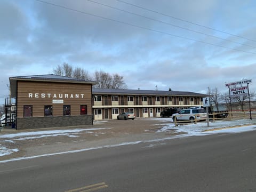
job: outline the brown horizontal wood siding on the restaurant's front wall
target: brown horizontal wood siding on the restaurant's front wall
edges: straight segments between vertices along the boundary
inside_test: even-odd
[[[63,105],[70,105],[71,116],[80,115],[80,105],[87,105],[87,115],[92,114],[91,84],[18,81],[17,86],[17,117],[23,117],[24,105],[33,106],[33,117],[44,117],[45,105],[52,105],[53,116],[63,115]],[[29,98],[29,93],[33,93],[33,98]],[[35,93],[39,94],[39,98],[35,98]],[[45,98],[41,98],[41,93],[45,93]],[[47,93],[51,93],[50,98]],[[53,98],[53,94],[57,94],[57,98]],[[59,94],[63,94],[63,98],[59,98]],[[65,98],[64,94],[68,94],[69,98]],[[70,98],[70,94],[74,98]],[[75,98],[75,94],[79,94],[79,98]],[[83,98],[81,94],[84,94]],[[63,103],[52,103],[53,99],[63,99]]]

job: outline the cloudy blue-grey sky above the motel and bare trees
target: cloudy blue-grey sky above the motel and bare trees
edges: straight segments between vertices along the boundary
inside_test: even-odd
[[[207,93],[252,79],[256,2],[1,0],[0,105],[9,77],[66,62],[124,77],[128,89]]]

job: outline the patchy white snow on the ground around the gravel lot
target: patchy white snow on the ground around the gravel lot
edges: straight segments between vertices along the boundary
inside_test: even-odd
[[[256,130],[256,119],[253,119],[253,120],[243,119],[238,121],[215,121],[215,122],[210,122],[209,127],[207,127],[207,122],[174,126],[173,123],[170,123],[170,121],[172,121],[170,118],[150,118],[149,119],[149,121],[153,121],[153,123],[156,120],[160,121],[161,125],[163,126],[163,128],[161,130],[158,130],[158,132],[167,132],[169,130],[175,130],[175,132],[183,133],[183,134],[175,135],[171,138],[198,136],[198,135],[215,134],[215,133],[222,133],[222,132],[237,133],[237,132]],[[38,138],[44,138],[44,137],[58,137],[61,135],[66,135],[67,137],[79,137],[79,132],[92,133],[95,130],[103,130],[103,129],[107,129],[107,128],[102,127],[97,129],[92,128],[92,129],[70,129],[70,130],[47,130],[47,131],[31,131],[31,132],[21,132],[21,133],[12,133],[12,134],[0,134],[0,139],[2,140],[0,143],[0,157],[19,151],[18,148],[15,148],[15,149],[6,148],[3,145],[4,142],[18,142],[19,140],[31,140],[31,139],[38,139]],[[169,137],[168,139],[171,139],[171,138]],[[119,143],[119,145],[131,145],[131,144],[140,143],[140,142],[143,142],[143,141],[125,142],[125,143]],[[149,142],[149,141],[146,141],[146,142]],[[114,146],[118,146],[118,145],[114,145]],[[102,146],[101,148],[104,148],[104,147],[111,147],[111,146]],[[84,149],[84,150],[89,150],[89,149]],[[74,151],[69,151],[69,152],[74,153]],[[68,151],[65,153],[68,153]]]

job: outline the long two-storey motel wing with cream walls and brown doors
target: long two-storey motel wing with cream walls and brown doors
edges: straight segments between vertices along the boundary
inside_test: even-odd
[[[123,112],[138,118],[160,117],[167,108],[203,106],[206,94],[186,91],[92,89],[94,119],[117,119]]]

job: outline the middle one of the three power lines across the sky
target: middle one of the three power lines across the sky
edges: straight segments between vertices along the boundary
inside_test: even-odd
[[[186,28],[186,27],[181,27],[181,26],[173,25],[172,23],[169,23],[169,22],[165,22],[165,21],[161,21],[161,20],[149,18],[149,17],[146,17],[146,16],[144,16],[144,15],[140,15],[140,14],[137,14],[137,13],[132,13],[132,12],[130,12],[130,11],[122,10],[122,9],[117,8],[117,7],[113,7],[113,6],[110,6],[110,5],[103,4],[103,3],[95,2],[95,1],[92,1],[92,0],[87,0],[87,1],[92,2],[92,3],[95,3],[95,4],[99,4],[99,5],[102,5],[102,6],[106,6],[106,7],[109,7],[109,8],[111,8],[111,9],[118,10],[118,11],[123,11],[123,12],[125,12],[125,13],[133,14],[133,15],[136,15],[136,16],[138,16],[138,17],[142,17],[142,18],[146,18],[146,19],[149,19],[149,20],[161,22],[161,23],[164,23],[164,24],[166,24],[166,25],[170,25],[170,26],[177,27],[177,28],[180,28],[180,29],[193,31],[194,33],[206,35],[206,36],[209,36],[209,37],[218,38],[218,39],[221,39],[221,40],[223,40],[223,41],[228,41],[228,42],[231,42],[231,43],[236,43],[236,44],[239,44],[239,45],[243,45],[243,46],[247,46],[247,47],[251,47],[251,48],[253,48],[253,49],[256,49],[256,47],[251,46],[251,45],[246,45],[246,44],[243,44],[243,43],[238,43],[238,42],[235,42],[235,41],[231,41],[231,40],[229,40],[229,39],[217,37],[217,36],[214,36],[214,35],[205,34],[205,33],[202,33],[202,32],[200,32],[200,31],[196,31],[196,30],[189,29],[189,28]]]

